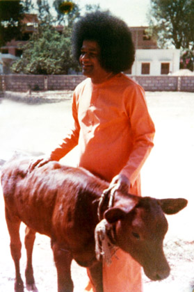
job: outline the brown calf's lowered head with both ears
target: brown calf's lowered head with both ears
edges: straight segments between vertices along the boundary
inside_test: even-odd
[[[104,213],[114,225],[116,244],[143,266],[149,279],[165,279],[170,274],[163,253],[163,238],[168,230],[164,213],[175,214],[186,204],[185,199],[156,200],[129,195]]]

